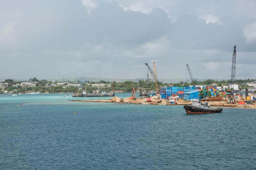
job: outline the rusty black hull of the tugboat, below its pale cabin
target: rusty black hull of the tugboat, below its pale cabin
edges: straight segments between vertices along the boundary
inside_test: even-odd
[[[205,114],[205,113],[220,113],[222,112],[222,108],[216,109],[202,109],[191,105],[184,105],[184,109],[187,114]]]

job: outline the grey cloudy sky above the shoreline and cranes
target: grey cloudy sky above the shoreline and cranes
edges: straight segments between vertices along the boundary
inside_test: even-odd
[[[256,1],[0,0],[0,78],[256,78]]]

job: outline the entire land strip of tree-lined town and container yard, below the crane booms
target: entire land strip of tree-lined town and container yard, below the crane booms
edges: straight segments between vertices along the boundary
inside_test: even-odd
[[[202,101],[208,101],[212,106],[233,106],[250,108],[256,105],[256,80],[236,80],[233,85],[234,103],[230,103],[231,84],[229,81],[193,81],[179,83],[158,82],[156,89],[155,82],[140,80],[139,82],[109,82],[109,81],[47,81],[37,80],[35,77],[29,81],[13,81],[6,79],[0,82],[0,92],[2,94],[40,94],[40,93],[75,93],[101,94],[101,93],[124,93],[130,95],[134,90],[133,97],[121,99],[119,97],[97,100],[96,102],[128,102],[136,104],[162,104],[177,105],[189,104],[192,99],[198,98]],[[139,94],[138,94],[139,93]],[[115,95],[113,95],[115,96]],[[228,97],[229,96],[229,97]],[[87,97],[79,98],[79,101],[93,102]],[[76,100],[77,101],[77,100]],[[95,102],[95,101],[94,101]],[[234,106],[236,104],[236,106]]]

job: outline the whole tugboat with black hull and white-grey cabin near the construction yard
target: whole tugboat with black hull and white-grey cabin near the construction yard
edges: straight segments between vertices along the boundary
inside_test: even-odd
[[[191,105],[184,105],[187,114],[220,113],[222,108],[210,108],[208,102],[202,103],[198,99],[192,99]]]

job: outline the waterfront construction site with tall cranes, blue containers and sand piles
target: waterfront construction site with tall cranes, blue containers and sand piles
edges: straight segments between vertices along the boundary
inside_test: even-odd
[[[115,96],[110,99],[100,100],[71,100],[81,102],[106,102],[113,104],[153,104],[153,105],[189,105],[192,99],[200,99],[202,102],[208,102],[210,106],[219,107],[236,107],[236,108],[256,108],[256,88],[246,88],[242,92],[237,92],[238,85],[235,82],[236,78],[236,45],[234,46],[232,55],[232,67],[229,88],[218,86],[205,86],[195,85],[195,79],[192,76],[191,69],[188,64],[187,70],[191,80],[190,86],[183,87],[159,87],[159,77],[156,74],[156,63],[153,62],[153,69],[145,63],[147,66],[147,77],[145,82],[147,88],[140,91],[140,95],[136,96],[135,89],[132,89],[132,95],[126,98],[119,98]],[[153,77],[155,82],[155,89],[149,89],[150,77],[149,73]],[[114,83],[114,82],[113,82]],[[115,86],[113,84],[113,92]],[[243,93],[245,92],[245,93]]]

